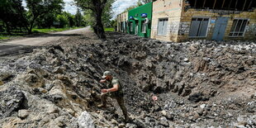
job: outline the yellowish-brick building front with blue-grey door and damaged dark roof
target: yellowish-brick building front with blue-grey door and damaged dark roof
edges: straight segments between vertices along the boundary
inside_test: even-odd
[[[255,0],[183,1],[177,40],[256,40],[255,7]]]

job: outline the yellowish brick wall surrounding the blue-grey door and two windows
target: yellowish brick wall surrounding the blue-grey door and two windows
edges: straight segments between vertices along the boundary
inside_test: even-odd
[[[186,8],[187,4],[183,2],[183,8]],[[189,30],[192,21],[192,17],[209,17],[210,23],[207,28],[206,37],[192,38],[189,37]],[[225,36],[223,40],[256,40],[256,9],[254,12],[238,12],[238,11],[226,11],[226,10],[199,10],[199,9],[183,9],[181,21],[178,31],[178,42],[190,39],[206,39],[211,40],[215,28],[215,22],[217,17],[228,17],[227,26],[225,29]],[[234,19],[244,18],[249,19],[249,24],[245,27],[245,33],[242,37],[230,37],[230,29]]]

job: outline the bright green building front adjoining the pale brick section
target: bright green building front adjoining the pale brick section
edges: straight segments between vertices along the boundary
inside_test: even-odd
[[[153,2],[149,2],[128,12],[129,34],[150,38],[152,5]]]

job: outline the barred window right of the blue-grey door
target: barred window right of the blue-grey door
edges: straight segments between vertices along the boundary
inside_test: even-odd
[[[247,25],[248,19],[235,19],[231,26],[230,36],[244,36],[245,26]]]

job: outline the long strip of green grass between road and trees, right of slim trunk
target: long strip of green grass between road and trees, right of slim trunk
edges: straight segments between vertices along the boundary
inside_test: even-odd
[[[58,32],[58,31],[69,31],[73,29],[83,28],[83,26],[80,27],[65,27],[65,28],[33,28],[33,33],[49,33],[49,32]]]

